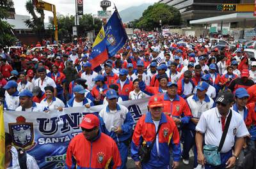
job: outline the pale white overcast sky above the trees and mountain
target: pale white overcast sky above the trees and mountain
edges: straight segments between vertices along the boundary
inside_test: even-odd
[[[13,0],[15,12],[19,15],[29,15],[26,11],[25,4],[27,0]],[[113,3],[115,3],[118,11],[124,10],[131,6],[139,6],[143,3],[156,3],[158,0],[110,0],[111,7],[108,10],[112,10]],[[52,3],[56,5],[57,13],[63,15],[75,15],[76,13],[76,0],[45,0],[47,3]],[[84,13],[97,14],[97,11],[102,10],[100,8],[100,0],[83,0],[84,3]],[[52,13],[45,11],[45,22],[48,22],[48,16],[52,16]]]

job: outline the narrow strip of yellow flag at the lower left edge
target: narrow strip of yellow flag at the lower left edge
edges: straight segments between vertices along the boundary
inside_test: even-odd
[[[4,133],[4,112],[3,105],[0,107],[0,169],[4,168],[4,148],[5,148],[5,133]]]

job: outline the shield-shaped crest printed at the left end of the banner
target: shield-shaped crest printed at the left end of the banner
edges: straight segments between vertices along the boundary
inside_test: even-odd
[[[23,116],[16,118],[16,122],[8,123],[9,133],[15,147],[29,150],[35,147],[33,122],[26,122]]]

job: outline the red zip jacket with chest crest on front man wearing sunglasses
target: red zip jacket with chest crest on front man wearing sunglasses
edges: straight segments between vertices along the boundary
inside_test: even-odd
[[[121,163],[115,141],[104,133],[93,142],[80,133],[68,145],[66,168],[120,168]]]

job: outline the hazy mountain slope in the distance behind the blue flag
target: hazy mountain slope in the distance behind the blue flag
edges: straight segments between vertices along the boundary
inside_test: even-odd
[[[119,15],[122,18],[122,22],[129,22],[134,19],[142,17],[143,11],[146,10],[150,5],[152,4],[141,4],[140,6],[132,6],[126,8],[125,10],[119,11]]]

